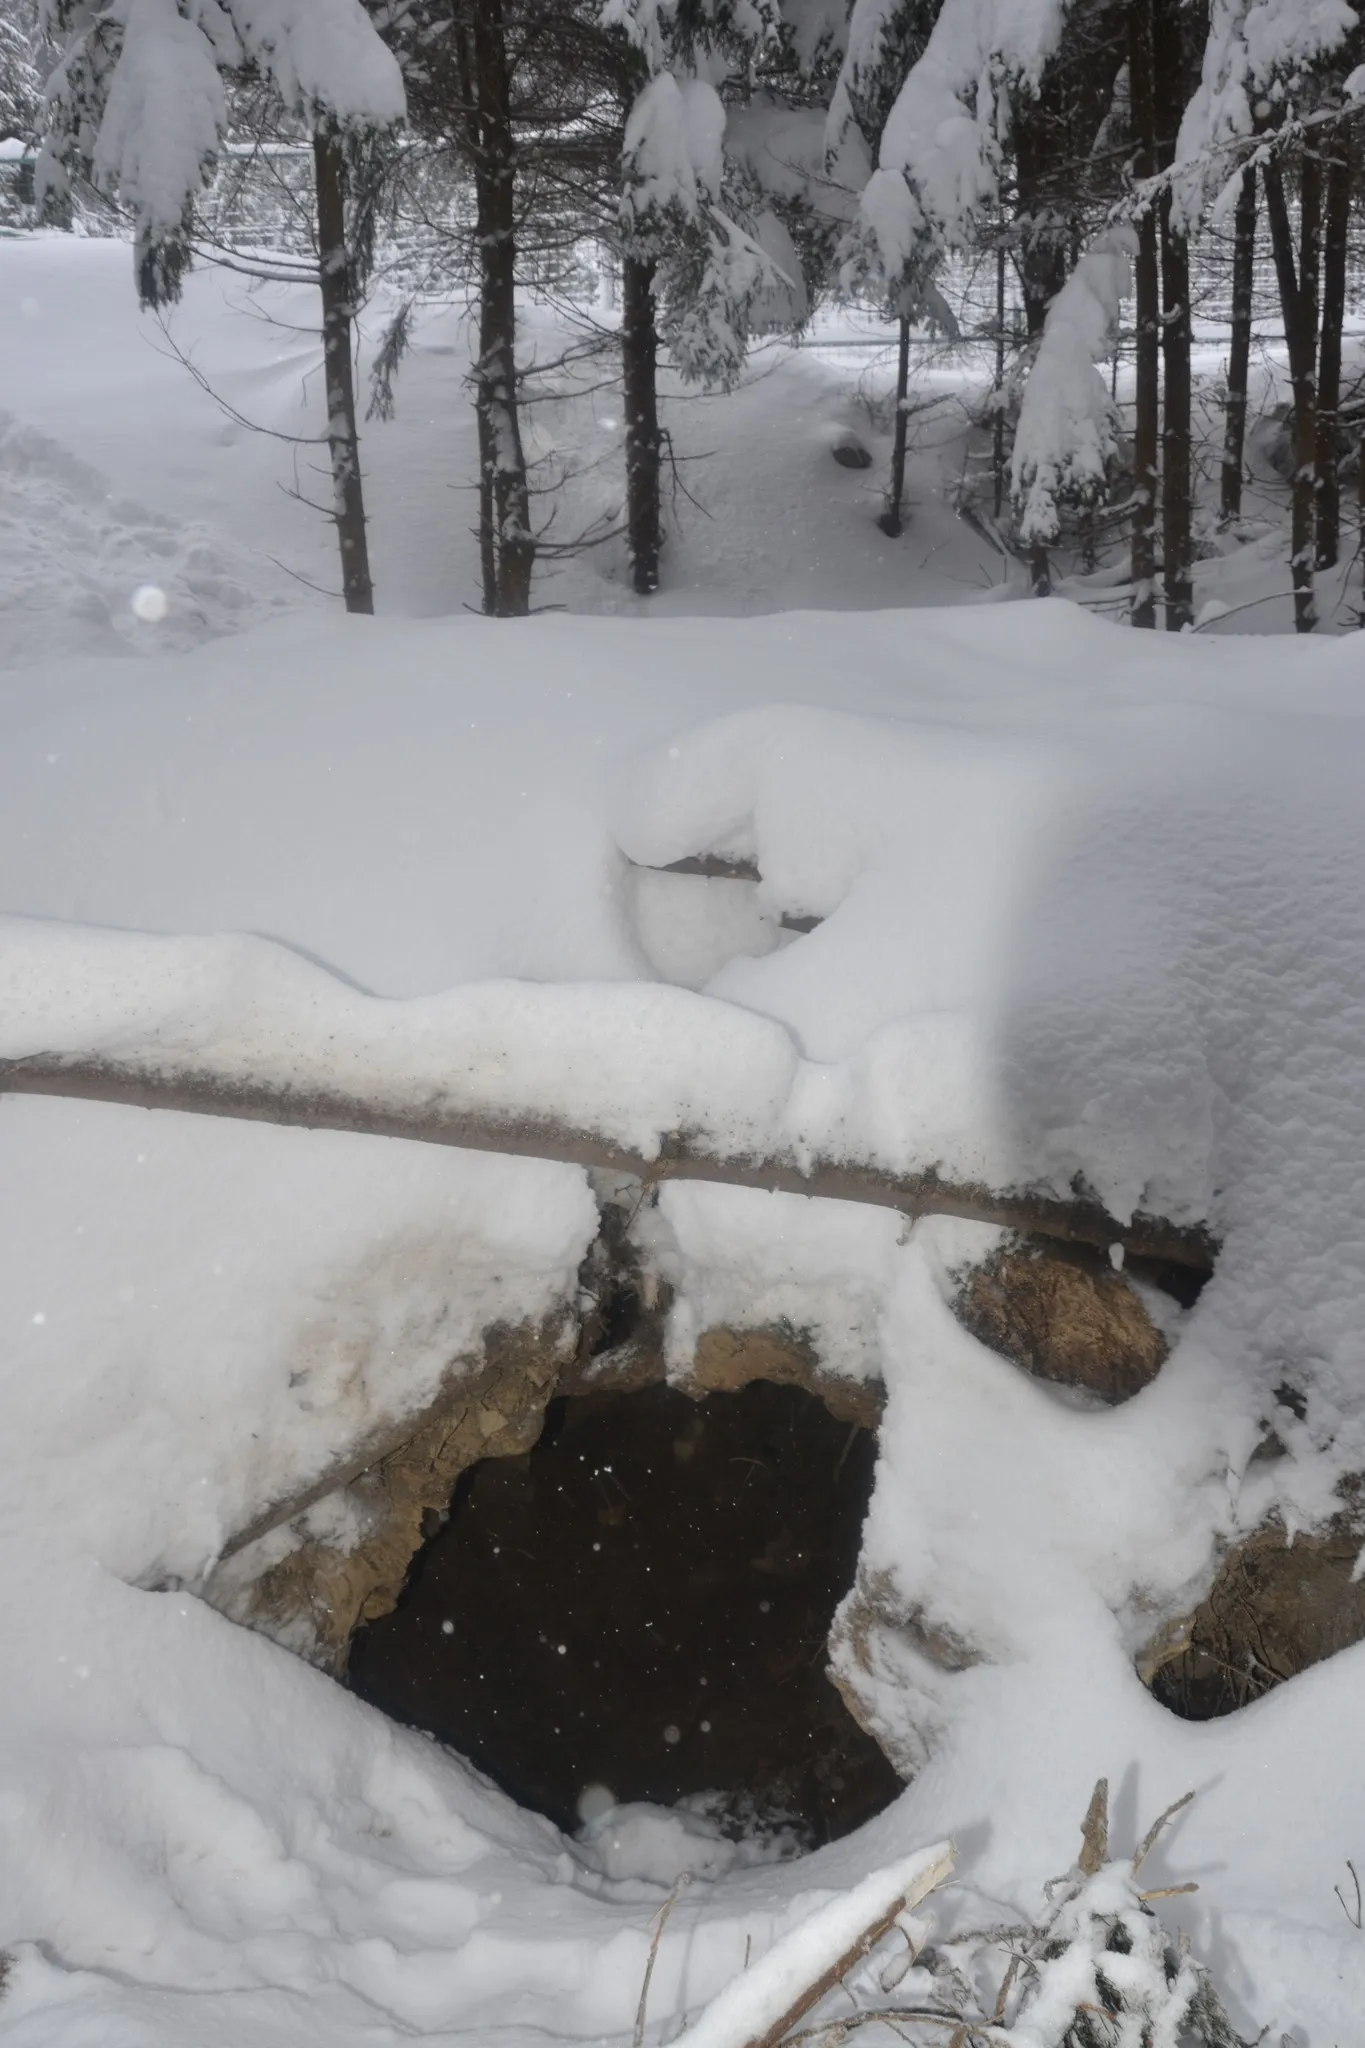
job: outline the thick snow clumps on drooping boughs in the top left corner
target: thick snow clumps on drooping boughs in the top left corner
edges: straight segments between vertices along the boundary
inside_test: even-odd
[[[72,172],[133,215],[145,303],[178,297],[190,209],[227,129],[223,76],[254,68],[289,113],[368,135],[403,119],[403,80],[360,0],[47,0],[63,39],[39,190]]]

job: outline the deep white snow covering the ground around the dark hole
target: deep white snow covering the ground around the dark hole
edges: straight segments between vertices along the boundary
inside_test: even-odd
[[[1224,1237],[1158,1380],[1083,1411],[950,1317],[978,1227],[665,1192],[673,1356],[720,1315],[788,1315],[837,1368],[882,1374],[866,1563],[980,1661],[943,1673],[888,1638],[876,1710],[923,1767],[812,1858],[698,1878],[659,1944],[651,2038],[943,1835],[962,1890],[939,1911],[1033,1911],[1107,1774],[1119,1849],[1197,1790],[1148,1868],[1199,1882],[1169,1911],[1244,2030],[1347,2048],[1365,1939],[1334,1886],[1365,1849],[1365,1647],[1201,1726],[1146,1694],[1134,1653],[1220,1536],[1271,1503],[1304,1526],[1365,1468],[1355,645],[964,606],[999,567],[931,498],[958,457],[923,453],[911,535],[884,543],[878,473],[829,457],[857,408],[817,352],[679,408],[688,453],[712,451],[686,471],[706,514],[681,508],[649,616],[606,555],[544,594],[628,616],[463,614],[454,319],[366,440],[389,616],[346,621],[270,559],[329,567],[278,489],[293,451],[229,430],[156,352],[127,250],[47,238],[0,262],[35,307],[4,324],[20,426],[0,461],[61,557],[0,561],[0,616],[25,606],[0,672],[0,1057],[340,1059],[360,1030],[399,1085],[430,1090],[448,1057],[454,1092],[542,1090],[632,1130],[681,1102],[888,1165],[1062,1190],[1083,1171],[1119,1214]],[[176,334],[295,430],[311,346],[229,299],[194,281]],[[575,467],[589,446],[616,463],[606,393],[551,418]],[[587,471],[571,500],[591,516],[614,487]],[[207,559],[244,594],[231,616],[192,586]],[[147,582],[174,639],[125,616]],[[641,887],[626,860],[702,848],[755,854],[763,883]],[[825,922],[782,934],[778,911]],[[31,920],[274,944],[147,950]],[[645,1034],[669,1047],[653,1096]],[[630,2038],[667,1882],[604,1874],[194,1597],[227,1534],[415,1407],[479,1329],[569,1296],[583,1176],[8,1096],[0,1219],[0,2040]],[[1277,1409],[1283,1456],[1252,1462],[1283,1380],[1304,1419]],[[698,1855],[714,1868],[714,1843]]]

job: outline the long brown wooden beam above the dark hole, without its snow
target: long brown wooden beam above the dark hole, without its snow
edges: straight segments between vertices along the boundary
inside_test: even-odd
[[[845,1159],[817,1159],[804,1167],[792,1155],[724,1155],[688,1133],[665,1133],[659,1155],[649,1159],[598,1130],[577,1130],[548,1118],[503,1118],[440,1104],[383,1102],[344,1090],[291,1087],[272,1079],[241,1081],[209,1067],[160,1067],[151,1057],[117,1061],[37,1055],[0,1061],[0,1094],[70,1096],[139,1110],[180,1110],[192,1116],[295,1124],[307,1130],[411,1139],[420,1145],[456,1145],[467,1151],[604,1167],[636,1176],[651,1186],[665,1180],[704,1180],[769,1194],[868,1202],[900,1210],[905,1217],[966,1217],[972,1223],[997,1223],[1101,1251],[1121,1245],[1128,1257],[1183,1266],[1197,1274],[1212,1272],[1218,1249],[1201,1225],[1177,1225],[1144,1214],[1132,1223],[1117,1223],[1087,1192],[1062,1198],[1031,1188],[999,1190],[978,1182],[943,1180],[933,1167],[923,1174],[888,1174]]]

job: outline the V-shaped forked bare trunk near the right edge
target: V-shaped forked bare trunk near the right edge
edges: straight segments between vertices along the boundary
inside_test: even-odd
[[[1293,582],[1293,629],[1312,633],[1318,623],[1314,594],[1314,512],[1318,469],[1318,211],[1322,178],[1318,158],[1304,154],[1300,178],[1300,260],[1293,260],[1293,227],[1279,162],[1265,166],[1265,211],[1285,319],[1289,389],[1293,393],[1293,483],[1289,514],[1289,578]]]

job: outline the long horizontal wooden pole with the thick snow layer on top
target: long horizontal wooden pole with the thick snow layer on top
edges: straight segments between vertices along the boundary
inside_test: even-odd
[[[937,1040],[821,1065],[772,1018],[661,983],[491,981],[389,1001],[262,938],[8,918],[0,1092],[968,1217],[1195,1270],[1214,1255],[1201,1227],[990,1186],[970,1085]]]

